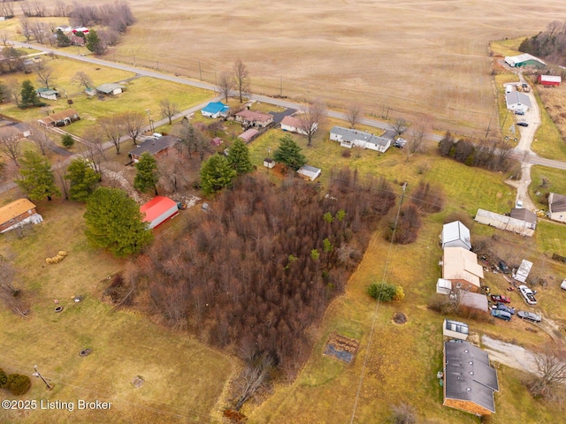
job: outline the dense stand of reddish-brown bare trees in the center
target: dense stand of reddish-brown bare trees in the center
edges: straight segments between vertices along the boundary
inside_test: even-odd
[[[331,186],[320,199],[299,178],[280,187],[241,178],[137,260],[138,304],[247,363],[263,358],[294,375],[310,352],[306,329],[343,291],[395,201],[384,180],[350,171],[333,173]]]

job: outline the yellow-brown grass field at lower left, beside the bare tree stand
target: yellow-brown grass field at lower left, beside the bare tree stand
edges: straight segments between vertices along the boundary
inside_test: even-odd
[[[84,206],[68,201],[40,202],[45,221],[24,239],[3,235],[2,254],[12,254],[17,282],[32,302],[20,318],[0,308],[0,367],[31,375],[37,365],[54,384],[46,391],[33,379],[22,398],[61,402],[112,402],[110,411],[0,411],[2,422],[204,422],[219,421],[214,411],[233,373],[234,360],[187,335],[164,330],[142,314],[101,301],[107,276],[124,262],[88,246],[82,234]],[[64,249],[55,265],[45,257]],[[74,295],[84,296],[75,303]],[[54,303],[58,300],[58,304]],[[63,306],[60,314],[54,307]],[[92,349],[88,357],[79,352]],[[136,389],[136,375],[145,380]],[[6,393],[4,393],[5,397]],[[11,396],[8,396],[11,398]]]

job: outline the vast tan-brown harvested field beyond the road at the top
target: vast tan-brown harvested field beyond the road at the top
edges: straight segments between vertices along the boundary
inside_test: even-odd
[[[279,95],[282,79],[295,99],[430,113],[463,133],[495,111],[488,42],[566,19],[561,0],[130,3],[138,21],[109,58],[210,82],[241,58],[256,93]]]

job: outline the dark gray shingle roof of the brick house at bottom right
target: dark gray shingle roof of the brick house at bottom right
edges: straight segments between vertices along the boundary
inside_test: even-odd
[[[487,352],[468,342],[445,342],[444,354],[446,398],[473,402],[494,413],[493,391],[499,391],[499,382]]]

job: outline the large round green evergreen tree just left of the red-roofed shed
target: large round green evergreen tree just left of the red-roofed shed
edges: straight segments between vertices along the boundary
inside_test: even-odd
[[[85,212],[88,241],[118,257],[136,254],[153,239],[137,203],[118,188],[98,187]]]

